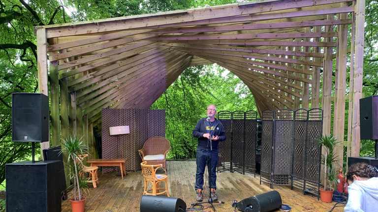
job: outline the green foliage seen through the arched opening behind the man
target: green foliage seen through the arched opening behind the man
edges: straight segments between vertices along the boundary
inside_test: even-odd
[[[248,87],[224,68],[187,68],[151,106],[166,111],[166,137],[172,147],[168,159],[195,158],[197,139],[191,134],[210,104],[218,111],[257,110]]]

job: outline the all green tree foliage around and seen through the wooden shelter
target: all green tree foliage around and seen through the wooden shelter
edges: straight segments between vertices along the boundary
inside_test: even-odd
[[[38,90],[33,27],[241,1],[0,0],[0,182],[5,179],[6,163],[31,156],[29,143],[11,141],[11,94]],[[377,9],[377,0],[366,0],[365,96],[377,95],[378,90]],[[191,132],[209,104],[219,111],[256,110],[248,87],[228,71],[216,65],[186,69],[151,107],[166,110],[166,136],[172,142],[169,158],[194,158],[196,140]],[[373,147],[373,141],[363,141],[361,155],[373,155]]]

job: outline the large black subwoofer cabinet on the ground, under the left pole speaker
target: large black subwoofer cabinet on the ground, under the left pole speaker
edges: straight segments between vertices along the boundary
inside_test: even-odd
[[[61,212],[58,160],[5,165],[7,212]]]

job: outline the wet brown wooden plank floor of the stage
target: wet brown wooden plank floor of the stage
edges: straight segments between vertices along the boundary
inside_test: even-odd
[[[171,197],[183,199],[187,208],[195,203],[195,161],[167,161],[168,189]],[[162,171],[163,173],[164,171]],[[206,170],[207,172],[207,170]],[[206,175],[207,176],[207,175]],[[141,171],[128,172],[122,180],[114,172],[101,174],[98,172],[99,184],[93,188],[89,184],[89,194],[86,194],[86,212],[139,212],[140,199],[143,194],[143,176]],[[254,178],[252,174],[223,171],[217,174],[217,194],[219,201],[215,203],[218,212],[233,212],[232,201],[241,201],[245,198],[265,193],[270,189],[269,185],[260,185],[260,176]],[[208,191],[207,181],[205,192]],[[163,185],[161,185],[163,186]],[[289,186],[274,185],[274,190],[281,194],[283,204],[289,205],[292,212],[328,212],[335,205],[323,203],[317,197],[303,195],[298,189],[290,190]],[[72,191],[68,192],[68,198],[72,197]],[[209,198],[205,194],[205,201]],[[340,205],[340,204],[339,204]],[[203,204],[203,211],[213,212],[210,205]],[[238,211],[238,210],[237,210]],[[280,211],[280,210],[277,210]],[[336,207],[333,212],[343,212],[344,207]],[[71,212],[69,200],[62,201],[62,212]]]

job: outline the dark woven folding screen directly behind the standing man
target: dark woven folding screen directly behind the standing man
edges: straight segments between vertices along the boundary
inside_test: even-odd
[[[257,112],[220,111],[218,119],[224,126],[226,140],[219,146],[219,171],[256,172]]]

